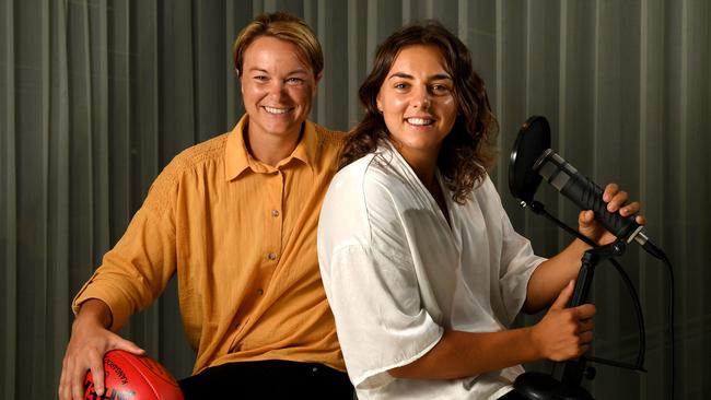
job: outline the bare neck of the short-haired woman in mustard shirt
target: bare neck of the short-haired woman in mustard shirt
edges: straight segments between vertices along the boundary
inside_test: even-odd
[[[244,141],[249,154],[261,163],[276,166],[280,161],[287,158],[299,144],[301,129],[288,134],[272,134],[268,132],[255,132],[249,126],[246,127]]]

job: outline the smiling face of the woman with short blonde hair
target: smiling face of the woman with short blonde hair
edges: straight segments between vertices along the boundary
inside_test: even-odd
[[[265,136],[298,140],[317,84],[299,48],[270,36],[256,38],[244,52],[240,82],[250,141]]]

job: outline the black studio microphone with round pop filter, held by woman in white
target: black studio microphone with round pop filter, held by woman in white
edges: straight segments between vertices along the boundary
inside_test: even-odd
[[[511,152],[509,187],[525,205],[533,201],[538,185],[546,179],[561,195],[582,210],[593,210],[595,220],[617,238],[637,242],[656,258],[663,252],[644,234],[634,216],[623,217],[619,212],[607,211],[603,189],[582,175],[550,146],[550,126],[545,117],[533,116],[518,131]]]

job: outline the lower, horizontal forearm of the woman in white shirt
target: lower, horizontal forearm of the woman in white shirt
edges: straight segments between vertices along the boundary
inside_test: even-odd
[[[396,378],[456,379],[541,358],[533,328],[501,332],[445,331],[440,342],[412,363],[393,368]]]

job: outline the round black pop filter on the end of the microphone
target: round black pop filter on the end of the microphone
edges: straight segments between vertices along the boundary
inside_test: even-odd
[[[548,149],[550,149],[548,120],[541,116],[528,118],[518,130],[509,161],[509,190],[515,198],[526,203],[533,201],[543,179],[534,170],[534,164]]]

